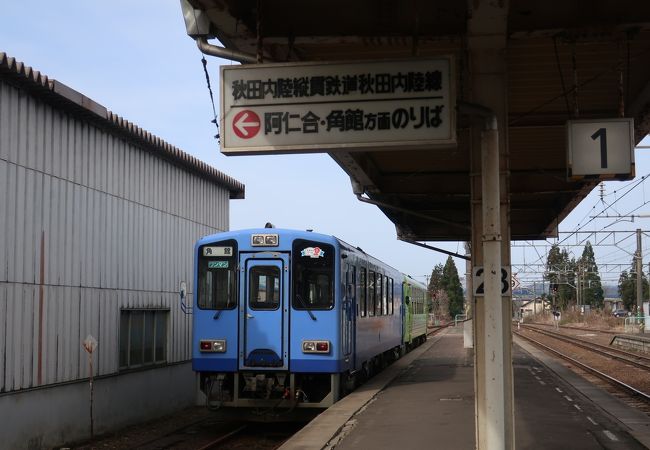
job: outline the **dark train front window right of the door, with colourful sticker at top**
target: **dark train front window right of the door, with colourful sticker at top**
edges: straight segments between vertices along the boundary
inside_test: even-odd
[[[294,309],[334,306],[334,247],[297,239],[293,243]]]

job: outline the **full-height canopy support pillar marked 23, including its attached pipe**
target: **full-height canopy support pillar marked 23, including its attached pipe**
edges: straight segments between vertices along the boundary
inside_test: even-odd
[[[512,376],[512,295],[502,295],[501,268],[510,272],[506,32],[508,1],[472,3],[468,22],[469,77],[474,104],[493,121],[472,125],[472,264],[482,266],[484,296],[475,296],[476,447],[515,448]]]

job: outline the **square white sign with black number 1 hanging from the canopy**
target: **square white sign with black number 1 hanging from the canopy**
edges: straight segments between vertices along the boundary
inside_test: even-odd
[[[567,122],[568,178],[634,177],[634,120],[601,119]]]

